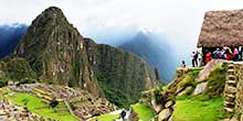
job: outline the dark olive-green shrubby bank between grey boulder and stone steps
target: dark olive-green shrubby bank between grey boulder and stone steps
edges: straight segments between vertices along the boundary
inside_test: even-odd
[[[222,95],[224,90],[225,81],[226,81],[225,64],[223,64],[222,66],[214,67],[213,70],[210,73],[208,79],[209,84],[204,95],[208,95],[210,97],[218,97]]]

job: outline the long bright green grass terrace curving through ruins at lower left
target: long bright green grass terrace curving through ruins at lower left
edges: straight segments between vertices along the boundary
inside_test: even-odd
[[[35,116],[43,117],[45,120],[54,119],[59,121],[80,121],[75,116],[68,112],[64,102],[59,102],[55,108],[50,108],[49,103],[43,101],[40,97],[32,94],[14,92],[4,87],[0,95],[8,101],[19,107],[25,107],[28,111]]]

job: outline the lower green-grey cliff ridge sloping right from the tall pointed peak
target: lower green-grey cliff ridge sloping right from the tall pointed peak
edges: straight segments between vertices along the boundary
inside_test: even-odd
[[[85,46],[103,92],[115,105],[134,103],[140,91],[157,85],[146,63],[134,54],[91,38],[85,38]]]

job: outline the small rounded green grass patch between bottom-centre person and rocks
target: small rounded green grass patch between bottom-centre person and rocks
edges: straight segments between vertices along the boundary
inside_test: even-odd
[[[138,114],[138,118],[141,121],[149,121],[155,117],[154,110],[142,103],[136,103],[131,106],[131,108]]]

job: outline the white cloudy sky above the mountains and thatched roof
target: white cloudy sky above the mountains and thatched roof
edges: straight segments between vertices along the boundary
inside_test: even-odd
[[[0,24],[30,24],[50,6],[60,7],[86,36],[106,30],[146,29],[191,51],[207,11],[243,9],[243,0],[0,0]]]

